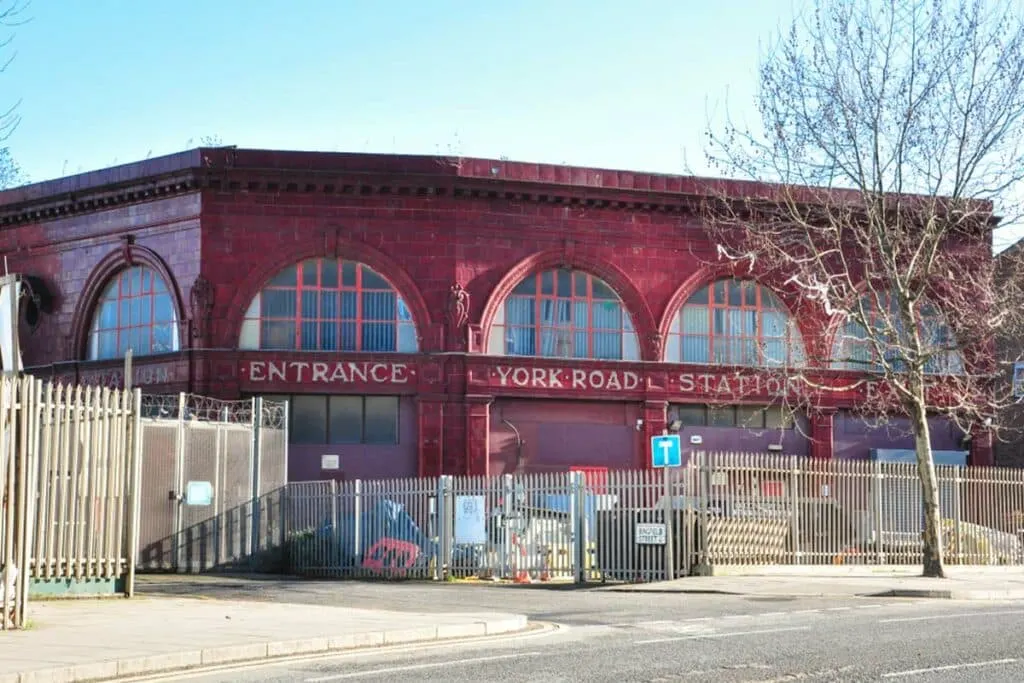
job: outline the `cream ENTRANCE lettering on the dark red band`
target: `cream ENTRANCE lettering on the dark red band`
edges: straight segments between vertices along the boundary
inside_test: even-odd
[[[251,382],[283,382],[286,384],[408,384],[412,368],[404,362],[370,362],[338,360],[250,360]]]

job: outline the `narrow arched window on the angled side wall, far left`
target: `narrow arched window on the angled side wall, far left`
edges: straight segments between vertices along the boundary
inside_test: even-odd
[[[178,350],[174,298],[157,271],[136,265],[119,272],[103,290],[89,327],[89,360],[153,355]]]

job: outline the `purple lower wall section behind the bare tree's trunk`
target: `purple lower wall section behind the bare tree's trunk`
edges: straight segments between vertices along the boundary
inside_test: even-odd
[[[932,432],[932,447],[936,451],[961,451],[964,432],[941,417],[928,421]],[[849,411],[836,414],[833,423],[833,447],[836,460],[866,460],[871,449],[912,449],[906,418],[891,418],[886,424],[870,425]]]

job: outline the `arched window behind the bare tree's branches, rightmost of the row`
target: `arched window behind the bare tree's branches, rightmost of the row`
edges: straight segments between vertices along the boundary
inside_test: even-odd
[[[865,295],[861,300],[873,334],[868,335],[867,327],[852,319],[847,321],[837,332],[831,350],[833,370],[881,371],[882,365],[873,341],[881,342],[883,356],[890,368],[896,372],[903,370],[907,338],[896,308],[896,298],[881,294],[879,299],[881,310],[874,296]],[[956,339],[942,311],[926,302],[921,307],[919,325],[924,351],[929,356],[925,362],[925,372],[936,375],[963,373],[964,361],[956,347]]]

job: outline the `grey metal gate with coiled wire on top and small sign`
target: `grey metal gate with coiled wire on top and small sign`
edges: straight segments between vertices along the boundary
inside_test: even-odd
[[[258,568],[281,547],[287,403],[142,400],[139,568]]]

